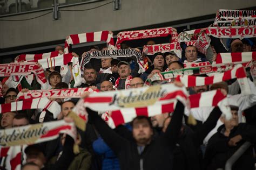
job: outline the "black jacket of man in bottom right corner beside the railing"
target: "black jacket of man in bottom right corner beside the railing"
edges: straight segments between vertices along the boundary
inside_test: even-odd
[[[204,169],[217,169],[224,168],[226,161],[234,154],[238,148],[244,144],[245,141],[251,141],[251,143],[256,143],[256,127],[252,125],[247,125],[245,123],[240,123],[235,126],[228,137],[224,136],[225,125],[221,125],[216,132],[208,141],[208,145],[205,151],[204,158]],[[237,144],[237,146],[228,146],[228,141],[240,134],[242,140]],[[252,147],[242,154],[242,156],[235,162],[232,169],[253,169],[253,151]]]

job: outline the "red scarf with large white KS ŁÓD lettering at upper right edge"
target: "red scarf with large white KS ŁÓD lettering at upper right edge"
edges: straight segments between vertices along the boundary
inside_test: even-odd
[[[206,54],[211,38],[253,38],[256,36],[256,26],[208,27],[200,32],[195,46],[198,51]]]

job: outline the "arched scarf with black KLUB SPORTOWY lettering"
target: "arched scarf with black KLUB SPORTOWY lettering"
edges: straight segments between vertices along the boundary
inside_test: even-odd
[[[135,49],[114,49],[114,50],[106,50],[106,51],[93,51],[87,52],[85,56],[83,56],[80,68],[83,71],[85,65],[90,62],[91,59],[103,59],[103,58],[127,58],[134,57],[139,65],[139,73],[145,72],[144,63],[142,54]]]

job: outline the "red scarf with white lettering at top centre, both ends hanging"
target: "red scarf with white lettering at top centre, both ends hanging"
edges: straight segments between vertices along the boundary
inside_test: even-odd
[[[171,36],[171,42],[176,42],[178,33],[173,27],[165,27],[159,29],[149,29],[149,30],[136,30],[136,31],[124,31],[117,34],[117,49],[121,48],[121,43],[123,41],[131,41],[145,38],[157,38],[157,37],[167,37]]]

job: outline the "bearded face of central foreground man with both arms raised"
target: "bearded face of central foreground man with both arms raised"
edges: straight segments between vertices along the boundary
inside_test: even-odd
[[[132,127],[132,135],[139,146],[146,145],[151,141],[153,130],[146,119],[135,119]]]

